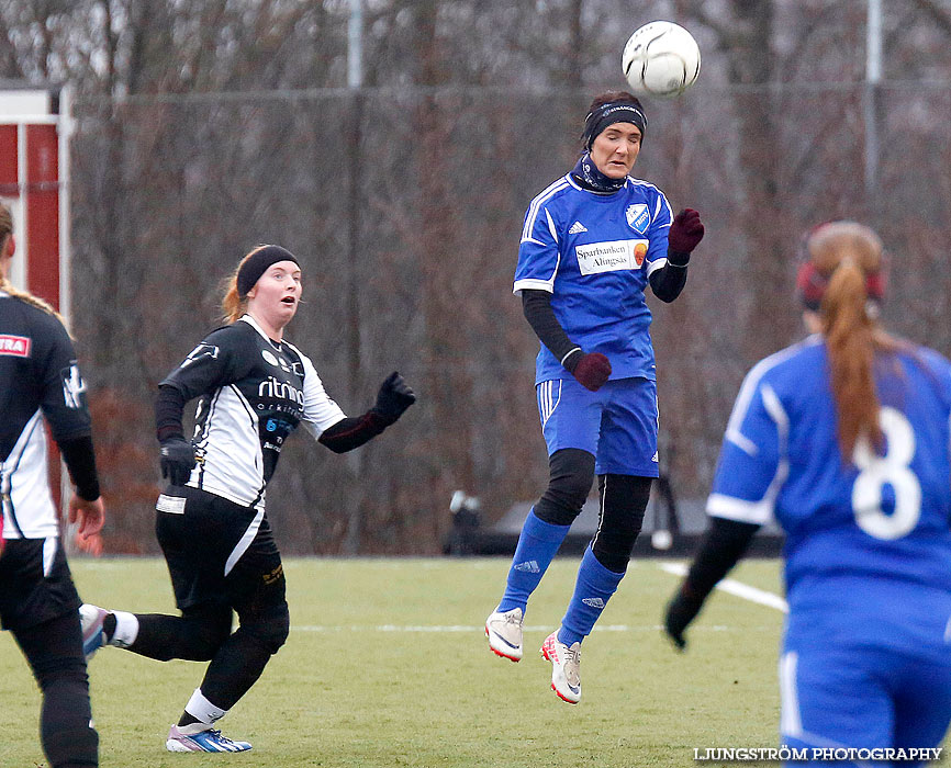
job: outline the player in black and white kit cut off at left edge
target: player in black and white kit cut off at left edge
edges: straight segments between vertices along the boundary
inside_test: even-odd
[[[0,622],[43,691],[40,736],[53,768],[99,765],[82,656],[79,597],[49,493],[47,426],[76,493],[69,520],[79,544],[99,550],[102,500],[85,386],[69,335],[54,310],[7,275],[13,219],[0,204]],[[8,720],[7,729],[18,727]]]

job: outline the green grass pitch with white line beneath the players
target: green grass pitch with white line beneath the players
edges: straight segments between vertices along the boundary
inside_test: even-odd
[[[678,654],[660,621],[679,578],[654,561],[631,562],[584,642],[581,703],[559,700],[537,648],[564,613],[578,562],[551,565],[529,603],[525,658],[512,664],[483,635],[507,558],[290,558],[288,644],[222,721],[254,749],[167,753],[168,727],[205,665],[104,648],[90,664],[101,765],[672,767],[700,765],[695,747],[776,745],[782,614],[717,592]],[[89,602],[174,612],[160,560],[77,558],[71,567]],[[777,561],[741,563],[731,577],[780,590]],[[0,766],[45,766],[40,693],[5,632],[0,701]]]

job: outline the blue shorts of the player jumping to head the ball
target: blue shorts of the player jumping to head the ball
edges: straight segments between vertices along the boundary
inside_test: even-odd
[[[657,383],[615,379],[597,392],[574,379],[536,385],[548,455],[579,448],[595,458],[598,475],[657,477]]]

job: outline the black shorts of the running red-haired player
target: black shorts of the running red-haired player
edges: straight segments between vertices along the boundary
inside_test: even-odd
[[[262,511],[180,486],[159,496],[156,510],[155,532],[180,610],[237,608],[261,588],[283,587],[281,555]]]

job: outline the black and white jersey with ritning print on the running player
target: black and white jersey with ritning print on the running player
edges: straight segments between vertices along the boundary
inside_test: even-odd
[[[311,360],[249,316],[205,337],[159,386],[200,397],[188,485],[264,507],[281,447],[303,421],[314,439],[346,418]],[[161,502],[161,501],[160,501]]]

